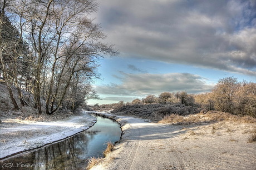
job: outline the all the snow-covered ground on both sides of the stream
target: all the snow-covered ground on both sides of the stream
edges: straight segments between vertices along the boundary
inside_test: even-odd
[[[221,121],[191,125],[152,123],[114,116],[122,138],[115,151],[92,169],[255,169],[256,143],[248,143],[255,123]],[[55,122],[19,122],[1,126],[0,157],[44,146],[89,128],[95,117],[80,116]]]

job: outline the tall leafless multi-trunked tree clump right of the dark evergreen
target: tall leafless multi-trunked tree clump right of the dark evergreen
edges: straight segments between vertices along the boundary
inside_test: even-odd
[[[26,37],[35,61],[31,82],[38,113],[42,113],[41,99],[46,100],[46,113],[54,113],[75,74],[97,78],[99,59],[118,54],[113,46],[101,43],[105,34],[87,17],[97,7],[95,0],[11,1],[9,13],[16,16],[14,22]]]

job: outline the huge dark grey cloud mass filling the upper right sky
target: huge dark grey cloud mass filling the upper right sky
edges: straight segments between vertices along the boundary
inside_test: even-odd
[[[256,76],[253,0],[102,0],[98,19],[122,57]]]

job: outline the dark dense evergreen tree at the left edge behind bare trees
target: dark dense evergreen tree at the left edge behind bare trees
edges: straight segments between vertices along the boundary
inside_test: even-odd
[[[22,78],[27,73],[27,69],[24,68],[31,66],[27,58],[28,44],[23,41],[22,34],[6,16],[5,11],[8,9],[9,1],[1,1],[0,5],[0,72],[7,84],[14,109],[19,109],[11,87],[14,85],[17,88],[19,101],[24,106],[26,102],[23,99],[20,86]]]

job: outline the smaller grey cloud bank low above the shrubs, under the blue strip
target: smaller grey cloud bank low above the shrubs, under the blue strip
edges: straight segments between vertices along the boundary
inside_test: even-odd
[[[122,73],[122,84],[96,86],[99,94],[119,96],[146,96],[162,92],[186,91],[188,93],[209,92],[214,84],[207,84],[207,79],[189,73],[168,74],[127,74]]]

